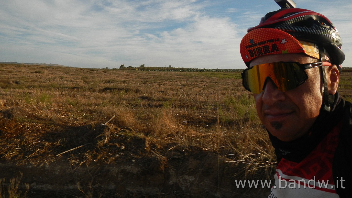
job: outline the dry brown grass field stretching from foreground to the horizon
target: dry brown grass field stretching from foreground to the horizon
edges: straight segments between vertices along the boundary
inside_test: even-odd
[[[276,163],[235,72],[0,64],[0,136],[0,198],[266,197],[234,180]]]

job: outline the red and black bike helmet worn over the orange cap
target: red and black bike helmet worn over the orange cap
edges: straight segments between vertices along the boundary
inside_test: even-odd
[[[341,37],[331,21],[322,14],[301,8],[281,8],[266,14],[259,25],[250,27],[248,32],[259,28],[278,29],[297,40],[316,43],[326,49],[331,62],[338,66],[345,60]]]

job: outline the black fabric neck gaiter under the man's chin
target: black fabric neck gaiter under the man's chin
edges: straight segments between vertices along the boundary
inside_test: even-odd
[[[331,105],[331,112],[321,109],[309,132],[297,140],[284,142],[271,135],[268,131],[272,146],[275,148],[277,162],[282,157],[293,162],[302,161],[337,125],[343,114],[341,112],[343,111],[343,106],[344,100],[341,99],[339,93],[336,93],[334,102]]]

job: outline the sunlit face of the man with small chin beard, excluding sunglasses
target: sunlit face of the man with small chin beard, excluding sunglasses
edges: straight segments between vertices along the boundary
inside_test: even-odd
[[[266,55],[254,59],[251,67],[279,61],[301,64],[319,62],[303,54]],[[262,93],[253,94],[260,120],[279,140],[292,141],[306,134],[319,115],[322,104],[319,67],[305,71],[307,81],[294,89],[282,92],[268,81]]]

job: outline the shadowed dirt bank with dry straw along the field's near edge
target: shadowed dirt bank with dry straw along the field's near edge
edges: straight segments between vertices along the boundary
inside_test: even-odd
[[[0,178],[6,178],[3,191],[18,184],[17,194],[40,198],[210,198],[249,194],[236,188],[235,169],[225,162],[228,159],[199,147],[175,144],[156,148],[153,141],[133,129],[111,123],[61,131],[61,137],[66,138],[60,140],[69,145],[65,148],[53,138],[54,133],[39,139],[25,133],[7,139],[14,142],[16,138],[21,144],[9,143],[14,147],[1,154]],[[43,141],[47,143],[40,144]],[[24,154],[15,154],[19,150]],[[41,150],[48,154],[36,154]],[[14,184],[11,178],[15,178]]]

